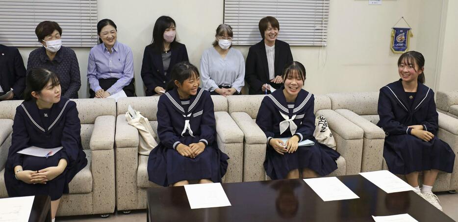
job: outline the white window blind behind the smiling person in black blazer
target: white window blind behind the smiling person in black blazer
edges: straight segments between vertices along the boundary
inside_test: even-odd
[[[254,45],[262,37],[259,20],[275,17],[279,39],[292,46],[326,46],[329,0],[225,0],[224,23],[232,26],[234,45]]]

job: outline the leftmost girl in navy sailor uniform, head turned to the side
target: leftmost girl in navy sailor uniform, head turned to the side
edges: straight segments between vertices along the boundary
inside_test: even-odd
[[[44,68],[29,70],[25,101],[16,108],[4,174],[10,197],[49,195],[52,218],[62,194],[69,193],[68,184],[87,165],[76,103],[60,95],[56,74]],[[49,157],[17,153],[30,146],[63,148]]]

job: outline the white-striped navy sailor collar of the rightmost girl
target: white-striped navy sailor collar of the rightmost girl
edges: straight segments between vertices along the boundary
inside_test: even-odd
[[[388,94],[391,95],[406,112],[416,112],[423,105],[427,104],[428,99],[433,96],[433,90],[431,90],[431,88],[418,82],[417,93],[413,99],[413,106],[409,107],[408,98],[402,85],[402,79],[383,86],[383,88],[387,90]]]

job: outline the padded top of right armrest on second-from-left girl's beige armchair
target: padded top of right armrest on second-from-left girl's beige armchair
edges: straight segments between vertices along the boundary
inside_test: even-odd
[[[228,112],[215,112],[216,134],[224,144],[243,143],[243,132]]]

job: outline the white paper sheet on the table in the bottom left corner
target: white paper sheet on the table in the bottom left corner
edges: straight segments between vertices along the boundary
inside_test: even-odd
[[[0,222],[28,222],[35,196],[0,199]]]

